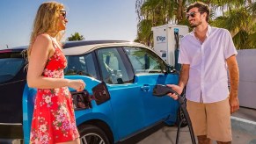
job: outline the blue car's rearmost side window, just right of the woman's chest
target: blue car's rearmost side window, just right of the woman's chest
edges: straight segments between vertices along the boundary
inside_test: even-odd
[[[68,61],[67,68],[64,69],[66,76],[83,75],[99,79],[92,53],[83,55],[69,55],[66,56],[66,58]]]

